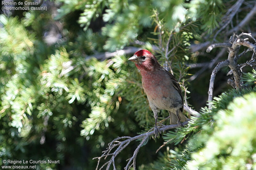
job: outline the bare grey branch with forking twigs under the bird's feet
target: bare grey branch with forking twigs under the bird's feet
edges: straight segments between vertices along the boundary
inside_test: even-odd
[[[181,124],[181,126],[185,126],[188,124],[188,121],[183,122]],[[159,131],[163,132],[165,130],[168,129],[174,129],[177,128],[178,126],[180,126],[179,124],[174,124],[174,125],[166,125],[164,127],[159,127]],[[116,170],[116,165],[115,165],[115,158],[116,156],[126,147],[128,146],[132,141],[136,140],[136,139],[142,139],[140,144],[138,145],[138,147],[135,149],[133,155],[131,158],[127,159],[129,160],[128,163],[126,164],[126,167],[124,168],[125,170],[129,170],[131,167],[134,168],[134,170],[136,170],[136,157],[137,154],[141,148],[141,146],[145,143],[145,141],[148,139],[149,136],[154,135],[154,130],[153,128],[151,129],[150,132],[147,133],[143,133],[140,134],[138,136],[135,137],[117,137],[116,139],[114,139],[112,142],[110,142],[108,144],[108,148],[106,151],[103,151],[103,154],[100,157],[95,157],[93,159],[98,159],[98,164],[96,167],[96,170],[98,170],[99,166],[100,166],[100,160],[102,158],[107,159],[108,156],[110,156],[111,158],[104,163],[102,166],[100,166],[100,169],[103,169],[105,166],[106,170],[110,169],[110,166],[113,165],[114,170]],[[123,139],[125,139],[124,141],[122,141]],[[111,152],[114,148],[116,148],[115,151]]]

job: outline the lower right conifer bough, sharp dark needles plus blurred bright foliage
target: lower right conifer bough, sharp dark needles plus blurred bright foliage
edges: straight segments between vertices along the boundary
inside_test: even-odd
[[[247,73],[251,74],[251,73]],[[241,169],[253,164],[255,134],[253,121],[256,88],[231,90],[212,101],[212,110],[202,109],[188,126],[169,132],[164,139],[185,149],[171,150],[168,169]],[[242,114],[243,113],[243,114]]]

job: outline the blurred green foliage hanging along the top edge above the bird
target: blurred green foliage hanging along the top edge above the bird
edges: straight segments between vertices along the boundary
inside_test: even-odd
[[[190,20],[201,18],[202,28],[212,32],[218,26],[222,1],[193,0],[190,3],[183,1],[62,1],[56,19],[60,19],[74,10],[83,10],[79,23],[86,30],[92,18],[102,14],[103,20],[108,23],[102,27],[102,34],[108,37],[104,49],[114,51],[124,48],[130,40],[134,40],[142,33],[143,28],[151,26],[152,20],[163,25],[166,31],[179,31],[179,27]],[[200,10],[204,9],[204,10]],[[209,16],[210,15],[210,16]],[[156,16],[158,18],[156,18]],[[172,16],[172,17],[170,17]],[[210,18],[210,19],[209,19]]]

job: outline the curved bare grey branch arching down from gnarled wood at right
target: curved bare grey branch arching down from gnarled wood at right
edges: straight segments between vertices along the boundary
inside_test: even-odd
[[[218,63],[217,66],[212,70],[212,75],[210,79],[210,85],[209,85],[209,91],[208,91],[208,101],[212,101],[212,92],[213,92],[213,85],[214,85],[214,79],[217,74],[217,72],[224,66],[228,66],[228,60],[225,60],[221,63]],[[211,104],[209,104],[209,109],[212,107]]]

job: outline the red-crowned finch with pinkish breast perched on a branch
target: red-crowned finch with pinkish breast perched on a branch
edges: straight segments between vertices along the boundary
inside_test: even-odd
[[[140,70],[142,87],[154,113],[155,137],[161,133],[156,126],[160,110],[168,110],[170,124],[181,124],[186,121],[187,117],[182,114],[184,101],[180,85],[176,78],[158,63],[155,55],[142,49],[135,52],[128,60],[135,63]]]

